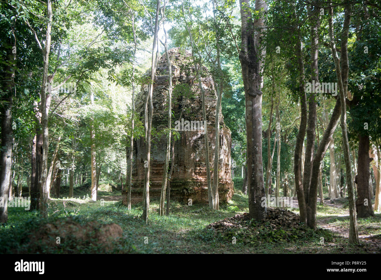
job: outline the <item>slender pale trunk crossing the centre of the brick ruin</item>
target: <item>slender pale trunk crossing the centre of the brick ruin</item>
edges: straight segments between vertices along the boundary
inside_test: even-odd
[[[170,160],[170,153],[171,153],[171,125],[172,125],[172,64],[171,59],[169,57],[168,48],[167,48],[167,39],[168,35],[166,33],[165,28],[163,27],[165,32],[165,43],[162,42],[165,48],[165,54],[168,64],[168,135],[167,137],[167,143],[166,143],[166,154],[165,154],[165,163],[164,163],[164,170],[163,170],[163,181],[162,181],[162,192],[160,195],[160,206],[159,206],[159,215],[164,215],[164,202],[165,202],[165,192],[167,188],[167,182],[168,182],[168,166],[169,166],[169,160]]]

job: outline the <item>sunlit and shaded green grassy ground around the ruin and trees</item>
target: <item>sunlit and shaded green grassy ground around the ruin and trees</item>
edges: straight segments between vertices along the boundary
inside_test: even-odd
[[[211,222],[232,217],[237,213],[248,212],[247,195],[240,190],[220,210],[210,210],[206,205],[192,206],[171,202],[170,216],[158,215],[158,201],[150,203],[149,224],[139,216],[142,204],[133,205],[131,211],[120,202],[120,191],[100,191],[98,199],[106,201],[92,202],[90,199],[70,198],[52,199],[49,213],[55,219],[66,216],[83,217],[86,220],[114,222],[123,229],[134,252],[140,253],[381,253],[379,243],[369,243],[365,237],[381,233],[381,214],[367,219],[359,219],[360,246],[347,243],[349,229],[347,209],[340,206],[318,206],[320,229],[317,232],[305,230],[293,233],[290,238],[283,238],[280,232],[271,232],[269,227],[256,224],[257,232],[245,232],[244,229],[221,235],[205,227]],[[106,199],[107,198],[107,199]],[[115,199],[113,199],[115,198]],[[107,201],[111,200],[111,201]],[[298,209],[292,210],[298,213]],[[0,247],[7,239],[5,236],[17,234],[19,227],[27,227],[25,221],[36,218],[35,211],[23,211],[9,208],[9,222],[0,226]],[[257,233],[257,234],[255,234]],[[291,233],[283,232],[285,236]],[[232,236],[236,243],[232,243]],[[324,244],[322,238],[324,237]],[[3,239],[3,242],[1,240]],[[17,239],[17,238],[16,238]],[[11,245],[9,245],[11,246]],[[13,245],[17,246],[17,244]],[[0,248],[2,249],[2,248]],[[130,249],[129,249],[130,250]],[[0,250],[1,251],[1,250]]]

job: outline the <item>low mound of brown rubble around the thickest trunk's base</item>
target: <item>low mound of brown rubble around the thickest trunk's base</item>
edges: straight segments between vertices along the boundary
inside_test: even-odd
[[[242,228],[247,226],[249,213],[236,214],[234,217],[225,218],[221,221],[212,222],[207,226],[208,229],[223,231],[228,228]],[[269,222],[272,229],[277,227],[299,228],[300,217],[290,210],[280,208],[267,208],[267,218],[263,222]]]

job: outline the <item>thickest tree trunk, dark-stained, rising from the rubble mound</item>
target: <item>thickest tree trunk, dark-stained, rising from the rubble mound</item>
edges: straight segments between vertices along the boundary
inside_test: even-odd
[[[267,11],[267,3],[256,0],[256,11]],[[266,192],[263,181],[262,162],[262,57],[260,37],[263,35],[263,18],[253,19],[250,1],[240,0],[241,13],[241,51],[239,59],[242,68],[243,88],[245,90],[246,134],[247,134],[247,172],[249,192],[249,214],[251,219],[263,220],[267,209],[261,207]],[[254,32],[256,29],[256,32]]]

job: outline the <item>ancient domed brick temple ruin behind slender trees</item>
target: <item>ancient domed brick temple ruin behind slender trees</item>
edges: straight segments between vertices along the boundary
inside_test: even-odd
[[[203,130],[188,130],[187,121],[194,124],[200,121],[203,128],[202,94],[196,73],[192,64],[191,53],[179,48],[169,50],[173,75],[172,96],[172,128],[175,121],[184,123],[183,131],[179,131],[180,138],[174,145],[174,164],[171,178],[171,199],[187,202],[189,198],[193,203],[207,203],[207,173],[205,164],[205,146]],[[150,76],[150,70],[145,74]],[[162,188],[163,166],[166,153],[166,136],[160,134],[168,124],[168,66],[165,54],[160,58],[154,79],[152,128],[159,136],[152,136],[150,161],[150,199],[160,199]],[[209,158],[210,168],[213,170],[215,149],[215,118],[216,118],[216,91],[213,80],[203,67],[202,86],[205,89],[205,104],[207,112]],[[141,92],[136,96],[136,114],[144,123],[144,108],[147,85],[142,85]],[[233,182],[231,178],[231,132],[224,124],[223,115],[220,114],[220,150],[219,150],[219,201],[227,202],[233,195]],[[156,134],[155,134],[156,135]],[[173,138],[172,138],[173,141]],[[146,146],[144,137],[134,140],[133,150],[133,183],[131,202],[141,202],[144,186],[144,161],[146,160]],[[213,179],[213,172],[211,171]],[[127,188],[123,191],[123,203],[126,203]]]

